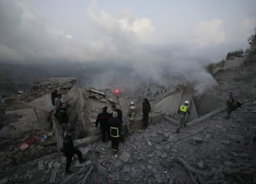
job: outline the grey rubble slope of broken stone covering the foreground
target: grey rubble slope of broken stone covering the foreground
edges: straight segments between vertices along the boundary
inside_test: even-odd
[[[176,127],[166,121],[150,125],[126,137],[118,155],[113,155],[111,142],[80,148],[86,162],[79,164],[74,158],[71,175],[65,174],[66,161],[61,155],[41,158],[20,167],[1,168],[0,178],[11,183],[27,180],[30,183],[192,183],[189,171],[183,166],[188,164],[204,183],[239,183],[236,175],[226,174],[226,171],[236,172],[238,168],[248,167],[246,172],[254,175],[256,172],[255,166],[250,167],[256,159],[255,143],[242,136],[248,123],[256,118],[256,113],[242,113],[249,112],[251,106],[245,104],[230,120],[223,119],[225,112],[218,113],[200,124],[182,129],[180,134],[174,134]],[[206,124],[198,134],[181,139]],[[185,163],[181,164],[181,160]],[[250,175],[241,175],[241,178],[248,183],[255,182]]]

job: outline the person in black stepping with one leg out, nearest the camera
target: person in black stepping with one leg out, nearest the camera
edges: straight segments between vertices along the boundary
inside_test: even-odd
[[[74,132],[76,129],[74,127],[70,128],[70,131],[68,131],[68,134],[66,134],[64,140],[63,140],[63,153],[66,156],[66,174],[71,174],[70,166],[72,163],[72,157],[74,154],[78,155],[79,163],[84,163],[84,159],[82,158],[82,153],[77,148],[73,147],[73,140],[72,136],[74,135]]]

